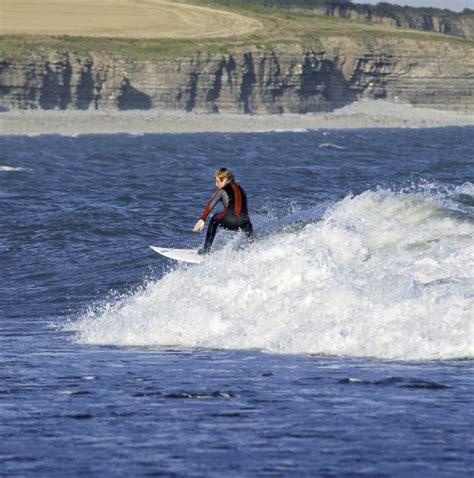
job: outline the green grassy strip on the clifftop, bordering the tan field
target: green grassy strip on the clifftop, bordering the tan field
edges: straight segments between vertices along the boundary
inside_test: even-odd
[[[272,0],[275,1],[275,0]],[[274,48],[301,50],[319,48],[327,37],[348,37],[370,43],[377,38],[412,39],[419,41],[448,42],[471,48],[474,42],[444,35],[403,30],[368,21],[353,21],[324,15],[289,11],[286,8],[265,8],[256,2],[244,0],[189,0],[187,3],[239,13],[259,21],[262,27],[251,34],[180,38],[94,38],[84,36],[1,35],[0,57],[3,59],[29,56],[42,51],[70,51],[80,55],[99,52],[110,56],[146,59],[174,57],[202,53],[229,53],[242,49]],[[93,12],[91,12],[93,13]]]

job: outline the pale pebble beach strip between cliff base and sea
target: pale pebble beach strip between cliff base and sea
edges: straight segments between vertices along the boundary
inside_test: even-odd
[[[474,126],[474,114],[364,100],[329,113],[282,115],[181,111],[9,110],[0,135],[257,133],[319,129],[437,128]]]

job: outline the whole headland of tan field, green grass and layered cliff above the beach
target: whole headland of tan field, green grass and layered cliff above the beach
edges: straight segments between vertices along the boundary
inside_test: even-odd
[[[0,110],[474,112],[474,11],[320,0],[4,0]]]

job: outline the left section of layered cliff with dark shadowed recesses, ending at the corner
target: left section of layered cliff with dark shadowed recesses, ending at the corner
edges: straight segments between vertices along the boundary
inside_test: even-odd
[[[78,58],[67,52],[4,61],[4,107],[23,109],[174,109],[281,113],[328,110],[354,99],[322,52],[247,51],[147,61]]]

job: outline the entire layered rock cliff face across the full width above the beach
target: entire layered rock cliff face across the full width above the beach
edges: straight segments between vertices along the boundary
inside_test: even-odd
[[[474,47],[328,38],[318,50],[132,60],[91,53],[0,61],[0,105],[307,113],[362,98],[474,112]]]

